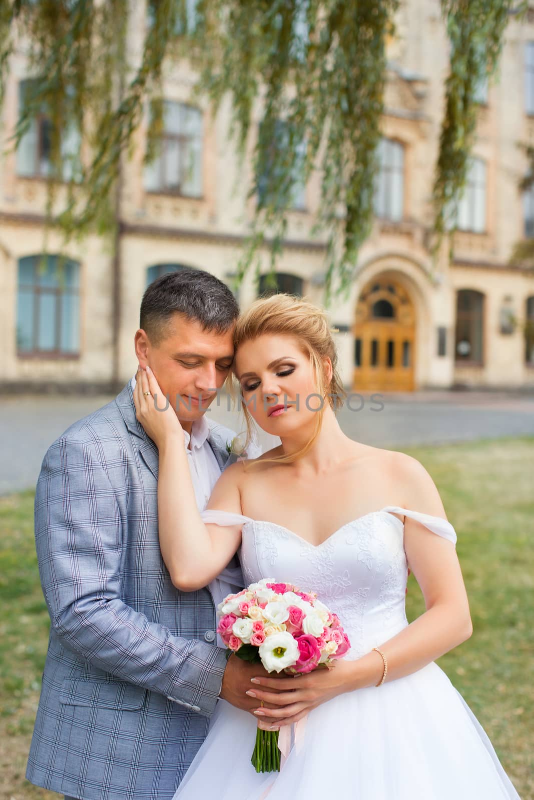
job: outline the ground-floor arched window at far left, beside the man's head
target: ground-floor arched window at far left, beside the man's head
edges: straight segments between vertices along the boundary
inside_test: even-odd
[[[79,264],[49,255],[18,261],[18,354],[79,351]]]

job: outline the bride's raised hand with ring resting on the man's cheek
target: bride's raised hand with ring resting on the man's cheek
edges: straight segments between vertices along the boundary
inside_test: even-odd
[[[175,414],[171,402],[164,397],[155,374],[147,370],[139,370],[135,374],[134,404],[135,417],[150,436],[155,445],[161,448],[163,442],[176,436],[183,439],[183,428]]]

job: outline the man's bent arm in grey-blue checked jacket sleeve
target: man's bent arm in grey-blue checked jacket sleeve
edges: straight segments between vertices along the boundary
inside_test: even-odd
[[[122,602],[122,520],[95,450],[58,439],[38,479],[35,542],[52,627],[66,648],[93,666],[209,717],[224,651],[174,636]]]

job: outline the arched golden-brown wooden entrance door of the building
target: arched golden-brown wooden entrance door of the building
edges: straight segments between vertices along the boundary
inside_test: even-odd
[[[416,314],[404,286],[391,278],[364,286],[352,330],[355,391],[414,390]]]

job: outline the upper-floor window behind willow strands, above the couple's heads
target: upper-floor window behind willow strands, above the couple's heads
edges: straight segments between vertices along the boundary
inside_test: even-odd
[[[263,130],[263,129],[262,129]],[[260,136],[262,135],[260,130]],[[264,162],[259,166],[256,188],[260,206],[274,202],[277,194],[277,184],[291,182],[290,202],[295,210],[306,209],[306,184],[303,181],[303,167],[306,158],[307,144],[304,141],[295,143],[295,162],[292,170],[288,164],[279,164],[279,155],[290,153],[291,127],[288,122],[278,119],[275,122],[274,134],[271,137],[271,146],[264,156]],[[275,168],[275,158],[277,167]],[[278,169],[278,171],[277,171]],[[283,194],[285,194],[283,186]],[[272,192],[272,197],[271,193]]]

